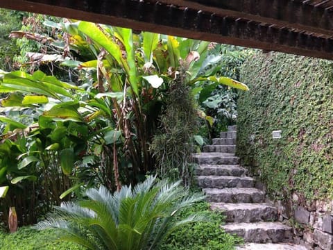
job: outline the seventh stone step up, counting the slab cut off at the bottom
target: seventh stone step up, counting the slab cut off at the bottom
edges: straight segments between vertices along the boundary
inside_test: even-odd
[[[239,158],[234,156],[234,153],[204,152],[194,153],[192,156],[195,163],[198,163],[199,165],[238,165],[239,163]]]

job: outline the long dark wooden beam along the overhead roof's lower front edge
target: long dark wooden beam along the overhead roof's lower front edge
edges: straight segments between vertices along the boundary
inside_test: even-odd
[[[333,60],[332,39],[167,3],[135,0],[0,0],[0,7]]]

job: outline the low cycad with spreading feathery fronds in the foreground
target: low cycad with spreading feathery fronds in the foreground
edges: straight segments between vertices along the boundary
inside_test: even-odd
[[[88,199],[65,202],[37,228],[60,229],[59,240],[76,242],[87,249],[157,249],[178,226],[203,220],[191,215],[173,219],[187,206],[203,199],[202,194],[189,195],[180,181],[169,183],[149,176],[146,181],[111,194],[92,188]]]

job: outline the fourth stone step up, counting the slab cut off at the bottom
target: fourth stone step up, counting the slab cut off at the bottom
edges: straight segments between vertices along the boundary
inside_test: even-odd
[[[264,201],[264,192],[257,188],[205,188],[207,201],[225,203],[260,203]]]

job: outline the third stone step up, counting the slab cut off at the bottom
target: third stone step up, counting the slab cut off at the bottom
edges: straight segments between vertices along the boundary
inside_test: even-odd
[[[273,222],[278,219],[278,210],[266,203],[210,203],[214,210],[221,210],[226,222]]]

